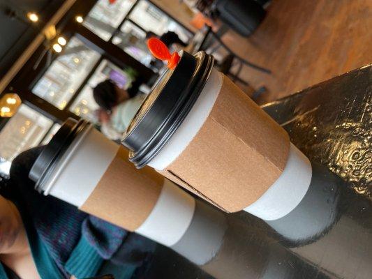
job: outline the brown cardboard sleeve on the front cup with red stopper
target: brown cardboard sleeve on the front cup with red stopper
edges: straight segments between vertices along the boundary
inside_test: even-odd
[[[278,179],[288,160],[288,134],[227,77],[202,128],[161,174],[235,212]]]

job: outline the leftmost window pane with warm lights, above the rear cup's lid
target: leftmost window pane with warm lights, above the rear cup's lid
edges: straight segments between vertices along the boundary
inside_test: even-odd
[[[40,144],[52,124],[52,120],[22,104],[0,131],[0,172],[9,174],[13,159],[22,151]]]

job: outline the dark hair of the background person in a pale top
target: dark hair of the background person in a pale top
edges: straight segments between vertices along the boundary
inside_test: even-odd
[[[93,89],[93,98],[103,110],[111,111],[117,105],[117,91],[115,84],[111,80],[99,83]]]

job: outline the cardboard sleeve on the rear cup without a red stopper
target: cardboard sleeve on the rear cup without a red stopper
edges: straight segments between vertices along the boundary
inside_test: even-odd
[[[128,151],[120,146],[81,209],[133,232],[154,209],[163,181],[150,167],[136,169],[128,161]]]

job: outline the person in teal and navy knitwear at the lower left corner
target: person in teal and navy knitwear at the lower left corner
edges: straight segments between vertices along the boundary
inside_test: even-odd
[[[21,153],[0,181],[0,278],[142,276],[153,241],[34,190],[28,174],[42,150]]]

